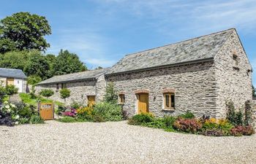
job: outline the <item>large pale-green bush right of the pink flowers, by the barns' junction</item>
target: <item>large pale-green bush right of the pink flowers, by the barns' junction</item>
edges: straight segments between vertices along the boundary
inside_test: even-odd
[[[101,115],[105,121],[123,120],[121,106],[118,104],[102,102],[94,106],[94,112]]]

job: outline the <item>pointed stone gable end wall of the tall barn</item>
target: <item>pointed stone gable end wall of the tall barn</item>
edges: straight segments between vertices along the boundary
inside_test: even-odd
[[[233,59],[233,54],[237,59]],[[217,79],[218,117],[226,116],[225,102],[233,101],[236,109],[241,108],[245,101],[252,100],[252,67],[246,57],[241,42],[233,31],[227,42],[215,57]]]

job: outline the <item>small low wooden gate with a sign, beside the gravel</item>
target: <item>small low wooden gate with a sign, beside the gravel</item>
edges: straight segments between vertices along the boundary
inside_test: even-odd
[[[39,114],[43,120],[53,120],[54,118],[53,103],[39,103]]]

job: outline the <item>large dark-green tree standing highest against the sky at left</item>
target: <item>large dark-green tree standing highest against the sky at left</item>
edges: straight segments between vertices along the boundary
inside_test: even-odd
[[[0,53],[12,50],[46,50],[43,36],[50,35],[48,20],[29,12],[18,12],[0,20]]]

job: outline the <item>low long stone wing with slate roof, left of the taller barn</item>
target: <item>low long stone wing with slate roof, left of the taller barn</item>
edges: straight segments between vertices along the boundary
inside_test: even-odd
[[[66,100],[67,104],[76,101],[91,106],[103,99],[106,87],[104,77],[106,71],[108,71],[108,69],[82,71],[74,74],[55,76],[39,82],[35,89],[37,93],[42,89],[52,89],[54,94],[50,99],[64,102],[59,95],[59,90],[67,87],[71,91],[70,97]]]

